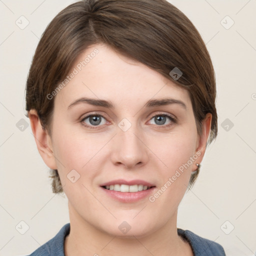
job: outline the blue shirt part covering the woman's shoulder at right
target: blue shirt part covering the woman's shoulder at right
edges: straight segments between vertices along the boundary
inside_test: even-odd
[[[189,230],[177,228],[177,233],[191,245],[194,256],[225,256],[223,247],[217,242],[203,238]]]

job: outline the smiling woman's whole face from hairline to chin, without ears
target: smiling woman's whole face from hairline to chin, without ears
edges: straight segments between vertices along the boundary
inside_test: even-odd
[[[111,235],[156,231],[174,218],[200,162],[188,92],[104,44],[87,48],[73,68],[54,96],[51,134],[72,212]]]

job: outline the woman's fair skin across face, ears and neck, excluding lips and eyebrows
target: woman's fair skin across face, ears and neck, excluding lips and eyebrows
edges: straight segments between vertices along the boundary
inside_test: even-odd
[[[105,44],[91,45],[75,64],[95,47],[99,53],[52,99],[51,136],[42,129],[36,111],[29,111],[38,151],[49,168],[58,170],[68,198],[65,255],[193,255],[177,235],[177,208],[191,171],[204,155],[211,114],[202,121],[199,136],[185,89]],[[67,109],[82,96],[105,99],[115,107],[79,103]],[[186,108],[176,103],[144,106],[149,99],[166,96],[181,100]],[[81,120],[88,114],[104,117],[93,126],[89,118]],[[160,125],[157,114],[170,114],[177,122],[166,117]],[[118,127],[123,118],[131,124],[126,131]],[[196,152],[200,156],[154,202],[148,197],[119,202],[99,186],[119,178],[143,179],[156,186],[153,194]],[[80,174],[74,183],[67,178],[72,169]],[[131,226],[125,234],[118,228],[123,221]]]

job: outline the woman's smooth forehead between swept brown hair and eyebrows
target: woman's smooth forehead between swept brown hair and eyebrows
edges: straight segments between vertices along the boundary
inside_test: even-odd
[[[187,90],[106,44],[91,45],[80,53],[62,84],[55,96],[55,105],[61,108],[82,96],[111,100],[122,106],[163,97],[191,105]]]

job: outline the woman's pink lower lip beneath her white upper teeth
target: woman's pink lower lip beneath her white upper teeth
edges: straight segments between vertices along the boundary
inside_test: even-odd
[[[110,197],[112,197],[115,200],[118,200],[121,202],[135,202],[135,201],[138,201],[145,197],[149,197],[149,195],[155,189],[155,186],[151,187],[149,189],[141,190],[141,191],[137,191],[137,192],[120,192],[120,191],[115,191],[115,190],[109,190],[102,186],[100,188],[103,189],[107,195],[109,195]]]

